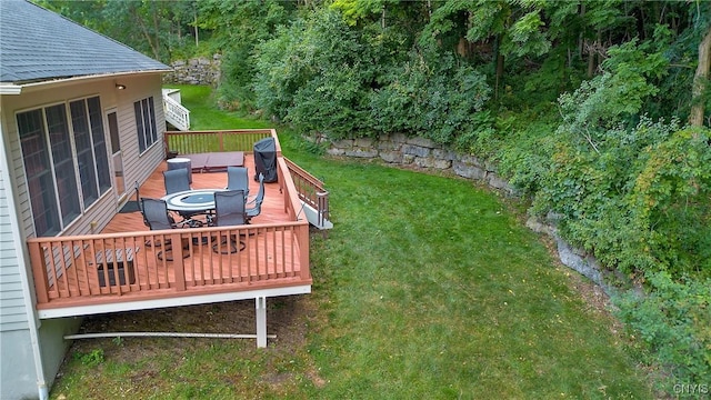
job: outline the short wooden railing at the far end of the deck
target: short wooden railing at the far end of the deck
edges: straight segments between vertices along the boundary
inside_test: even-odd
[[[178,154],[194,154],[214,151],[252,152],[254,142],[264,139],[277,139],[273,129],[233,129],[214,131],[168,131],[164,134],[166,149]],[[277,140],[277,153],[281,148]]]

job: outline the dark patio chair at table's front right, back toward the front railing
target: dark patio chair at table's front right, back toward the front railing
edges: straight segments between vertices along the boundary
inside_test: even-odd
[[[214,217],[212,218],[214,227],[233,227],[246,223],[244,216],[244,191],[226,190],[214,192]],[[222,250],[229,244],[228,251]],[[223,238],[220,243],[214,243],[212,250],[222,254],[236,253],[244,250],[247,244],[240,241],[240,248],[237,248],[237,239],[233,236]]]

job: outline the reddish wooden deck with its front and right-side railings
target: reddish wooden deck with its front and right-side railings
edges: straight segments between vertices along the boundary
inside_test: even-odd
[[[256,194],[253,157],[244,159]],[[152,172],[141,197],[164,194],[166,169]],[[250,224],[151,231],[134,211],[117,213],[98,234],[29,239],[40,318],[309,292],[309,226],[281,158],[278,169]],[[227,173],[193,172],[191,186],[224,188]],[[239,238],[237,252],[226,238]]]

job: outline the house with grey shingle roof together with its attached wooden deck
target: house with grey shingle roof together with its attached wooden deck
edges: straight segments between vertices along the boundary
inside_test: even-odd
[[[267,299],[310,292],[301,211],[323,209],[320,183],[281,156],[273,130],[167,132],[168,70],[33,3],[0,1],[1,399],[48,398],[83,316],[253,299],[263,347]],[[279,180],[261,222],[150,231],[140,212],[120,212],[133,182],[162,194],[168,150],[218,146],[253,168],[249,151],[263,138],[277,142]],[[219,172],[192,168],[193,184],[221,184]],[[243,238],[244,250],[200,246],[216,237]],[[187,256],[156,257],[171,241],[188,243]]]

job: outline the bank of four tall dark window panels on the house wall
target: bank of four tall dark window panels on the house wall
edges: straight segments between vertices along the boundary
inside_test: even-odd
[[[111,187],[101,103],[76,100],[17,120],[34,231],[53,236]]]

